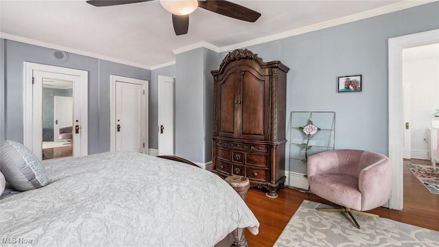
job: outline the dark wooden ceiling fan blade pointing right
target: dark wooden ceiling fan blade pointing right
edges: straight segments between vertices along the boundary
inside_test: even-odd
[[[225,0],[198,1],[198,7],[241,21],[255,22],[261,13]]]

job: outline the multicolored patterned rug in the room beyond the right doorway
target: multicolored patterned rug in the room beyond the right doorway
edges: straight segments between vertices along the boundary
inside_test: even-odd
[[[434,170],[431,165],[410,163],[407,164],[407,167],[431,193],[439,194],[439,167],[436,167],[436,170]]]

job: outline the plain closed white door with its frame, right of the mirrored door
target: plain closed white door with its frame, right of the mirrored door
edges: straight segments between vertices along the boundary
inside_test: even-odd
[[[147,150],[147,81],[111,75],[111,82],[111,150],[145,153]]]

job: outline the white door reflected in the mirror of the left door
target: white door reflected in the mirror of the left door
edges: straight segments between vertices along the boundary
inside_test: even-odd
[[[60,128],[73,126],[73,98],[54,96],[54,141],[60,139]]]

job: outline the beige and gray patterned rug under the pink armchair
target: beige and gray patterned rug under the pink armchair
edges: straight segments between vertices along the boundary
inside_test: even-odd
[[[326,204],[304,200],[274,243],[284,246],[439,246],[439,232],[389,220],[345,213],[319,212]]]

